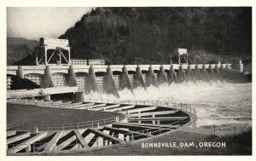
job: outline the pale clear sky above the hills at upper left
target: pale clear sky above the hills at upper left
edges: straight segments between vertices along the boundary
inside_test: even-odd
[[[92,8],[7,8],[7,36],[57,38]]]

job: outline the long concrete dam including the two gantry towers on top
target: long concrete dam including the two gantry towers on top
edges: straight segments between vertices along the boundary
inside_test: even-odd
[[[65,39],[42,37],[39,51],[36,66],[7,66],[8,98],[44,96],[50,100],[50,95],[75,93],[74,100],[83,101],[91,91],[119,98],[119,90],[130,89],[134,94],[138,87],[147,90],[162,83],[247,81],[242,70],[232,70],[231,64],[191,64],[187,49],[175,50],[177,64],[108,66],[105,60],[72,60]]]

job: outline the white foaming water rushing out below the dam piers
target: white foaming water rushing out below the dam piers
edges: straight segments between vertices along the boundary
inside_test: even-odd
[[[252,83],[175,83],[119,91],[120,99],[171,101],[186,103],[197,112],[197,126],[252,126]],[[112,95],[85,95],[90,98],[113,98]]]

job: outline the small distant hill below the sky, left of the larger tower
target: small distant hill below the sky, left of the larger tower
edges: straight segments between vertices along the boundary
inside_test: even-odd
[[[36,40],[7,37],[7,65],[15,65],[17,61],[32,55],[33,49],[36,46],[38,46],[38,41]]]

